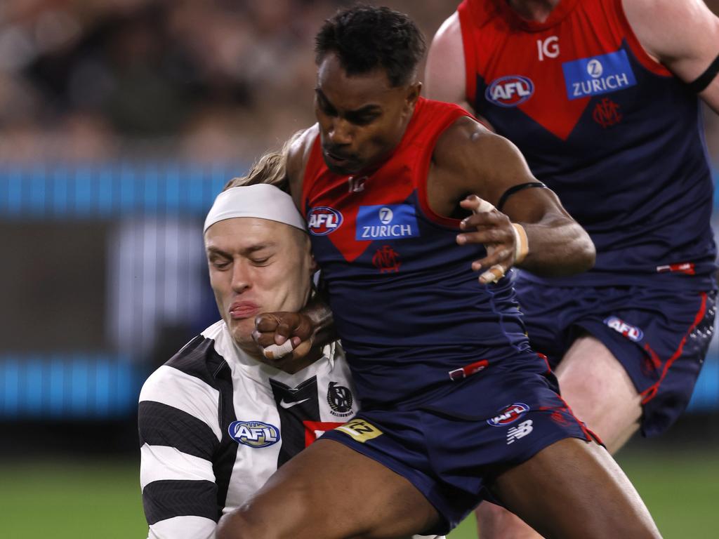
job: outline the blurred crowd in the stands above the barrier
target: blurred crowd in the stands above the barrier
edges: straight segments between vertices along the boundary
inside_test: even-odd
[[[313,35],[347,4],[4,0],[0,160],[252,159],[312,123]],[[456,7],[385,4],[411,14],[428,41]],[[719,155],[714,116],[707,136]]]

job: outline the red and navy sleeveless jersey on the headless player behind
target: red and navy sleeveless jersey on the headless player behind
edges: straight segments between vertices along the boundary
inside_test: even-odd
[[[643,50],[621,0],[560,0],[542,23],[504,0],[457,11],[468,101],[597,247],[591,272],[559,281],[656,275],[662,286],[711,287],[713,186],[697,96]]]

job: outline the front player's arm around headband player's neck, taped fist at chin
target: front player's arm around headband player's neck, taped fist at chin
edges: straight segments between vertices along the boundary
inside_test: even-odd
[[[302,178],[318,133],[316,125],[309,127],[298,134],[288,152],[290,194],[300,209]],[[265,354],[267,363],[285,372],[296,372],[314,361],[315,356],[319,357],[316,353],[318,348],[336,340],[332,311],[321,295],[315,295],[299,313],[262,313],[257,316],[252,338],[263,349],[273,344],[280,347],[279,353],[271,354],[272,357]],[[288,341],[291,346],[285,344]],[[313,350],[313,354],[310,354]]]

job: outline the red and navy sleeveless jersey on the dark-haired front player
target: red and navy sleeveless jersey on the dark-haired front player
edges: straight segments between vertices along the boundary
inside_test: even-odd
[[[467,115],[420,98],[393,155],[367,175],[331,172],[319,137],[313,144],[303,213],[365,409],[528,348],[510,279],[480,285],[471,263],[484,247],[457,245],[459,221],[427,203],[436,141]]]

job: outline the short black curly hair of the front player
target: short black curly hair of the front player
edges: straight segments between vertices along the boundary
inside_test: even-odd
[[[327,19],[315,37],[315,61],[334,52],[347,75],[383,68],[393,87],[416,74],[426,43],[406,14],[388,7],[357,5]]]

